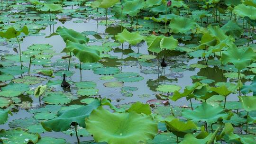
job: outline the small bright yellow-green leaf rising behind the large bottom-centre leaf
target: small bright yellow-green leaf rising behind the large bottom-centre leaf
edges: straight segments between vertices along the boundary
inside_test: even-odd
[[[150,115],[151,114],[151,108],[149,106],[149,104],[143,104],[139,101],[137,101],[136,103],[132,104],[131,107],[129,109],[126,110],[127,112],[131,112],[134,111],[138,114],[144,113],[146,115]]]

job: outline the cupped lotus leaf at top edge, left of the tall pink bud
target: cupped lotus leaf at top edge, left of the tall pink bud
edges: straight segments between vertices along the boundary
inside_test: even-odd
[[[122,0],[122,6],[116,5],[112,10],[116,18],[126,18],[127,15],[134,17],[145,7],[145,3],[144,0]]]

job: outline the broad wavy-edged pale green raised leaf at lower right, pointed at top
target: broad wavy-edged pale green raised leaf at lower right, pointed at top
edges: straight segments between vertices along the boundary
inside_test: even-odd
[[[213,107],[206,102],[194,110],[184,109],[182,116],[192,120],[193,122],[205,121],[209,125],[215,123],[219,118],[226,118],[229,114],[225,113],[224,109],[220,106]]]

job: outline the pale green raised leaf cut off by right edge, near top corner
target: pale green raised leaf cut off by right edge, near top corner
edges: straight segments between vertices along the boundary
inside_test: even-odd
[[[253,20],[256,19],[255,11],[256,11],[256,7],[247,6],[245,4],[239,4],[233,10],[233,12],[236,15],[238,15],[242,18],[249,17],[250,19],[253,19]]]

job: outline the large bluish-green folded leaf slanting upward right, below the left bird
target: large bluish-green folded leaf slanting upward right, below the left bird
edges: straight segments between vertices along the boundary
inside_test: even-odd
[[[91,111],[98,108],[100,105],[101,102],[99,100],[94,100],[89,105],[61,111],[58,113],[58,117],[42,122],[41,124],[46,131],[54,130],[56,132],[68,130],[73,122],[76,122],[79,126],[85,127],[85,117],[89,117]]]

